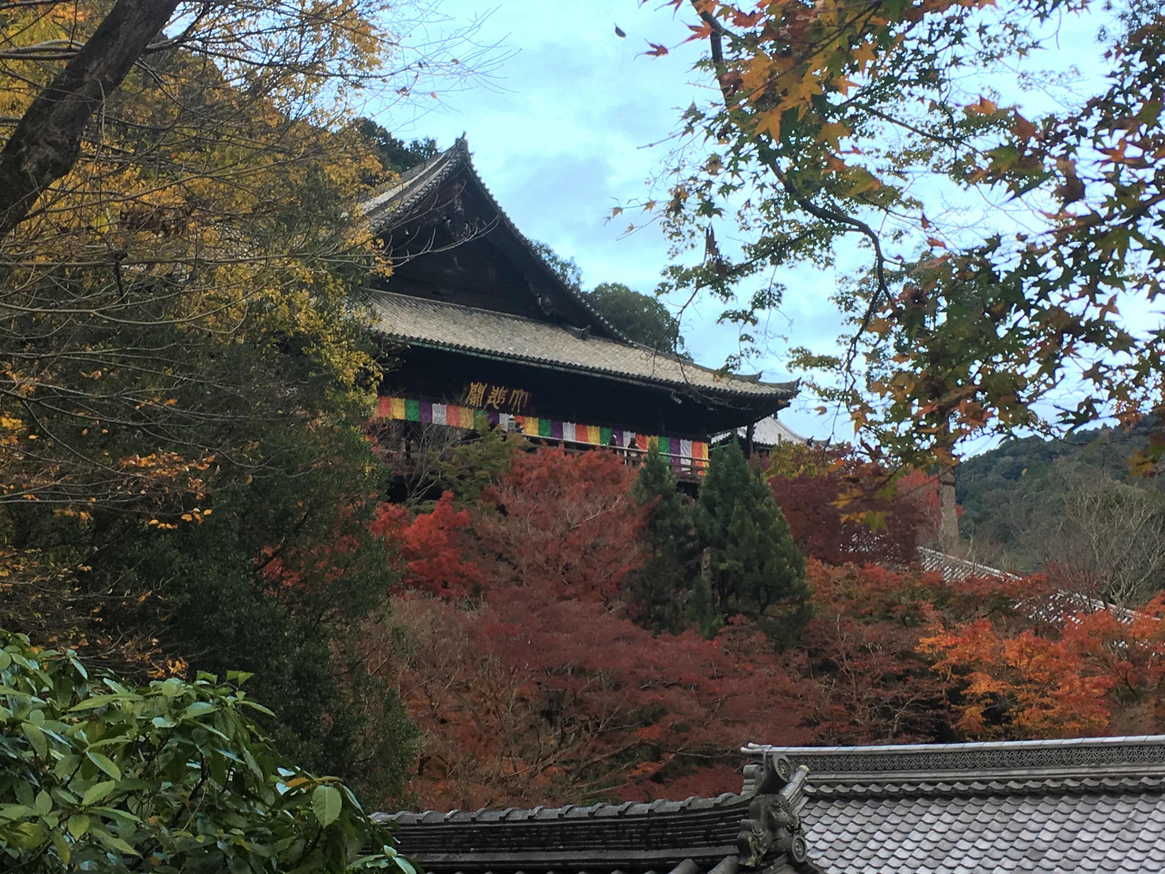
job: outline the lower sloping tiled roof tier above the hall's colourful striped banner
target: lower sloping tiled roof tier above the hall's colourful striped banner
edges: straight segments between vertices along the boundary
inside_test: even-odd
[[[504,312],[388,291],[375,292],[373,306],[384,334],[416,345],[570,367],[712,397],[789,400],[797,394],[796,382],[761,382],[725,375],[644,346],[578,336],[559,325]]]

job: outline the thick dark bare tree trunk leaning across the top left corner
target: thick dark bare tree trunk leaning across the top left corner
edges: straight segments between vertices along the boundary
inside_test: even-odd
[[[178,0],[118,0],[89,42],[36,96],[0,151],[0,237],[77,163],[85,125],[177,6]]]

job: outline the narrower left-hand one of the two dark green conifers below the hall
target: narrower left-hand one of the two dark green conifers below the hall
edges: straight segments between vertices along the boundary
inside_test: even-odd
[[[635,619],[655,633],[678,634],[689,623],[684,601],[697,577],[697,549],[691,505],[676,487],[658,446],[648,450],[631,495],[638,506],[648,507],[643,531],[648,557],[629,592]]]

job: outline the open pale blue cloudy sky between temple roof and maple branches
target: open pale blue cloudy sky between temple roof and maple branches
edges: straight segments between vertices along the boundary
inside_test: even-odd
[[[430,37],[476,22],[475,41],[495,47],[493,69],[463,90],[426,98],[409,114],[400,107],[373,114],[398,138],[432,136],[440,148],[464,132],[481,178],[527,237],[573,258],[587,288],[623,282],[650,292],[668,263],[662,233],[648,226],[624,235],[626,219],[606,218],[613,206],[645,193],[679,113],[693,99],[709,97],[708,85],[691,70],[702,45],[682,44],[685,20],[659,6],[655,0],[643,6],[637,0],[444,0],[445,20],[430,26]],[[1095,29],[1090,20],[1059,23],[1054,57],[1045,64],[1082,63],[1087,76],[1088,62],[1099,54]],[[649,41],[672,50],[649,57]],[[996,85],[1004,96],[1015,92],[1014,80]],[[1024,103],[1032,99],[1024,97]],[[842,265],[847,258],[854,263],[856,252],[841,253]],[[786,346],[828,352],[841,331],[828,299],[833,274],[799,269],[779,280],[788,292],[767,325],[767,353],[749,364],[765,381],[800,375],[783,361]],[[696,360],[713,367],[736,350],[736,329],[715,324],[720,309],[697,304],[682,329]],[[806,437],[852,436],[843,416],[819,415],[818,403],[803,392],[781,418]]]

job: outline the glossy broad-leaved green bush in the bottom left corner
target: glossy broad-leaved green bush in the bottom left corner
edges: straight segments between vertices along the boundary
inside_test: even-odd
[[[0,868],[416,874],[347,787],[270,746],[239,689],[126,688],[72,651],[0,646]]]

